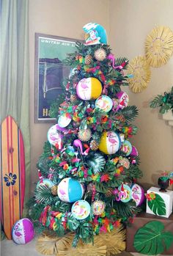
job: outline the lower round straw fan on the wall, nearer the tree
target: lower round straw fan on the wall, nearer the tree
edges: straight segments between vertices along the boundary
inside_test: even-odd
[[[128,84],[132,92],[141,92],[147,88],[150,81],[151,71],[145,56],[136,56],[129,62],[127,73]]]

